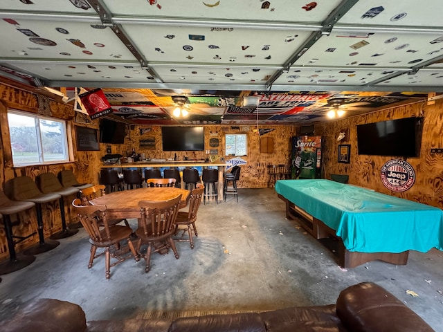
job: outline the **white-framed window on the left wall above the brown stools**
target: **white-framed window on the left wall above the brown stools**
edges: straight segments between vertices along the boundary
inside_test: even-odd
[[[69,161],[63,120],[8,111],[8,123],[15,167]]]

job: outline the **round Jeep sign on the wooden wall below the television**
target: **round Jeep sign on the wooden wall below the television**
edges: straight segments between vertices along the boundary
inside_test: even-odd
[[[415,182],[415,171],[406,160],[391,159],[381,167],[381,182],[392,192],[405,192]]]

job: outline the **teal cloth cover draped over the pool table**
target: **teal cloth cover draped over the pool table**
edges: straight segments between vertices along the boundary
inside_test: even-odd
[[[280,180],[275,192],[323,221],[355,252],[443,248],[443,211],[329,180]]]

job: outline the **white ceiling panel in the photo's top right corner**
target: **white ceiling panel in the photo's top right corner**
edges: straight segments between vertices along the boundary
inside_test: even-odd
[[[343,17],[340,24],[365,24],[382,26],[428,26],[442,24],[441,0],[365,0],[357,2]],[[407,28],[404,28],[407,30]]]

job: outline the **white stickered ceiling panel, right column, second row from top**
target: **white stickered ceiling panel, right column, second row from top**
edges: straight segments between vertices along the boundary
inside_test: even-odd
[[[296,65],[410,68],[442,55],[437,35],[332,33],[321,37]]]

